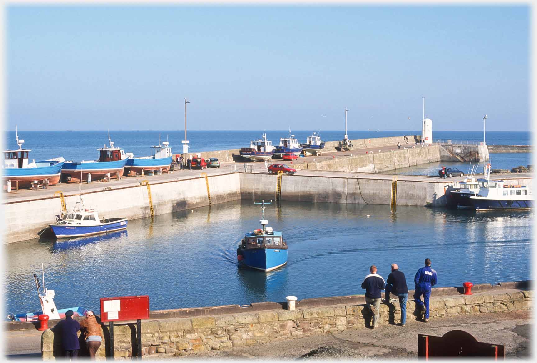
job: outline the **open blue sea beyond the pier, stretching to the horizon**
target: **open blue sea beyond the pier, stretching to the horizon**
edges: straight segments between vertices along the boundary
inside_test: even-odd
[[[293,134],[300,142],[306,142],[307,137],[317,130],[296,130]],[[250,131],[188,131],[191,152],[229,150],[247,147],[250,140],[261,137],[262,130]],[[402,136],[420,134],[417,130],[394,130],[394,131],[349,131],[350,139],[370,139],[373,137]],[[150,146],[158,144],[158,137],[170,142],[172,152],[182,153],[184,131],[110,131],[110,137],[115,145],[125,149],[126,153],[134,156],[151,155]],[[267,139],[273,144],[279,143],[280,137],[287,137],[288,130],[267,131]],[[344,132],[321,130],[322,140],[334,141],[343,139]],[[17,149],[15,133],[9,131],[5,134],[5,146],[8,149]],[[97,148],[108,145],[108,131],[25,131],[19,130],[19,139],[25,141],[23,147],[31,149],[30,158],[35,161],[63,156],[66,160],[81,161],[98,158]],[[433,132],[433,139],[452,140],[465,142],[479,142],[483,140],[482,132],[466,131],[437,131]],[[531,144],[530,132],[487,132],[488,144],[502,145],[529,145]]]

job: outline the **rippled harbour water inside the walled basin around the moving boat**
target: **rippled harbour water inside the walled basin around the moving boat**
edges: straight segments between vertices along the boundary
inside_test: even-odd
[[[531,278],[531,212],[398,206],[391,215],[389,206],[282,202],[265,213],[289,244],[288,264],[266,274],[237,265],[238,241],[259,226],[251,201],[133,220],[115,234],[5,245],[6,310],[39,309],[32,274],[41,263],[58,308],[96,312],[99,297],[124,295],[172,309],[363,294],[372,264],[387,278],[397,263],[413,288],[426,257],[439,287]]]

